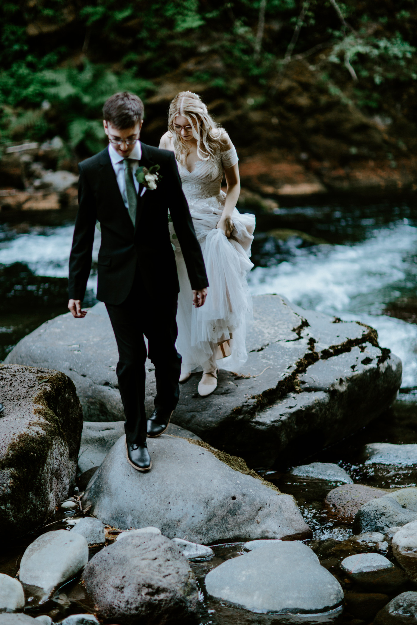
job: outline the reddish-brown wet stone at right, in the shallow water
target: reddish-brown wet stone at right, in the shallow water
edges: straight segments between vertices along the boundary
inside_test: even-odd
[[[352,522],[356,512],[371,499],[384,496],[385,491],[361,484],[346,484],[330,491],[324,499],[324,507],[329,516],[338,521]]]

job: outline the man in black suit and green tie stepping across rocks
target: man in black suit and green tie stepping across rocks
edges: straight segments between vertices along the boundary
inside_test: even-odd
[[[106,304],[118,344],[116,373],[126,422],[128,462],[152,463],[146,436],[160,436],[179,399],[181,355],[175,348],[179,291],[168,209],[193,289],[203,306],[208,280],[173,152],[139,141],[143,103],[116,93],[103,107],[108,148],[79,164],[79,209],[69,258],[68,308],[77,319],[91,270],[94,229],[101,227],[97,297]],[[155,409],[146,421],[145,335],[155,366]]]

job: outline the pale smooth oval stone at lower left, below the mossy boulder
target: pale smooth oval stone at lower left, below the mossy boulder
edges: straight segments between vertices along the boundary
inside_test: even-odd
[[[58,529],[41,534],[23,554],[20,581],[38,586],[48,597],[72,579],[88,562],[88,543],[84,536]]]

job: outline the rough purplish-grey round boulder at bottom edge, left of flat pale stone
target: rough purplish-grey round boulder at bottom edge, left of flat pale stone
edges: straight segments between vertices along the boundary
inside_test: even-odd
[[[89,561],[83,582],[106,622],[174,625],[196,614],[193,572],[178,547],[158,534],[128,536],[104,547]]]

